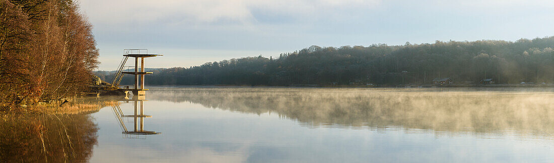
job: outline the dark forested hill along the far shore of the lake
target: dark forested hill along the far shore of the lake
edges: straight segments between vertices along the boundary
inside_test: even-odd
[[[157,70],[148,85],[349,85],[546,82],[554,79],[554,37],[512,41],[437,41],[388,46],[311,46],[278,58],[244,57]],[[168,56],[170,57],[170,56]],[[112,77],[106,77],[110,80]],[[127,84],[132,78],[126,79]]]

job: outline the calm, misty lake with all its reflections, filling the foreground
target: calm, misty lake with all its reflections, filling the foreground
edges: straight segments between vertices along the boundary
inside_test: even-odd
[[[145,100],[3,118],[0,162],[551,162],[552,99],[553,88],[151,87]]]

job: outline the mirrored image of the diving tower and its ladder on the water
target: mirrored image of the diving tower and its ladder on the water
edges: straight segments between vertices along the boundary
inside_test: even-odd
[[[119,120],[119,123],[120,123],[120,127],[121,127],[121,130],[122,130],[122,134],[124,135],[155,135],[155,134],[160,134],[160,133],[157,133],[157,132],[152,132],[152,131],[147,131],[147,130],[144,130],[144,120],[145,118],[149,118],[149,117],[152,117],[151,115],[145,115],[144,114],[144,103],[143,101],[145,100],[135,100],[134,101],[134,106],[135,106],[135,114],[134,115],[125,115],[123,114],[123,112],[121,111],[121,108],[119,107],[119,103],[116,104],[115,106],[112,106],[112,109],[114,109],[114,114],[117,118],[117,120]],[[140,103],[140,113],[139,113],[139,103]],[[127,130],[127,127],[125,126],[125,123],[124,123],[124,118],[127,117],[127,118],[130,118],[132,117],[134,120],[134,129],[132,131],[129,131]],[[140,120],[140,122],[139,122]]]

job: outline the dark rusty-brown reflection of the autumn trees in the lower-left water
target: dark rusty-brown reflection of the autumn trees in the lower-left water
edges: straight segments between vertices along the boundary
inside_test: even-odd
[[[0,162],[88,161],[98,138],[89,113],[1,119]]]

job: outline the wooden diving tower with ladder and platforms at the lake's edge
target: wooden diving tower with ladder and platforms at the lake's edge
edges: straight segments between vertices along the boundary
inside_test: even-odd
[[[145,95],[146,91],[148,89],[144,88],[144,75],[152,72],[145,72],[144,71],[144,58],[145,57],[155,57],[155,56],[161,56],[161,54],[148,54],[148,49],[125,49],[125,54],[123,55],[123,60],[121,60],[120,66],[117,69],[117,73],[115,75],[114,81],[112,82],[113,86],[119,86],[119,83],[121,82],[121,79],[123,78],[123,75],[131,74],[135,75],[135,82],[133,88],[121,88],[121,90],[124,90],[125,92],[132,91],[133,96],[143,96]],[[129,57],[135,58],[135,66],[129,66],[134,69],[134,71],[129,71],[133,69],[128,69],[127,71],[124,71],[125,62],[127,62],[127,59]],[[140,58],[140,67],[139,67],[139,58]],[[139,70],[140,69],[140,70]],[[139,80],[140,77],[140,80]]]

